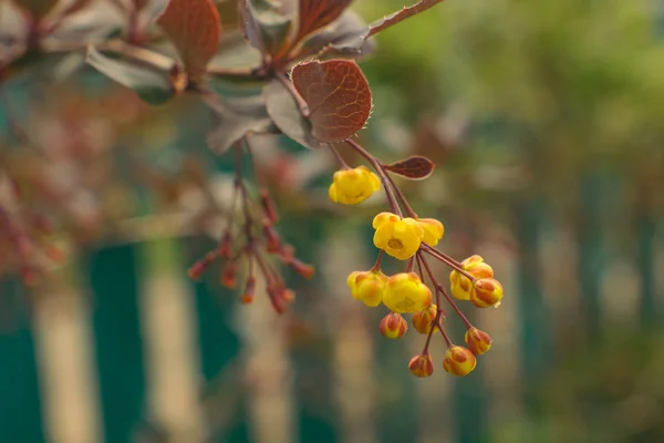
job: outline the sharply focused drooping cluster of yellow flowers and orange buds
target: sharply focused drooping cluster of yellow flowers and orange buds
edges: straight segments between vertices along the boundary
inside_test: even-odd
[[[422,352],[408,362],[413,375],[429,377],[434,372],[429,346],[436,331],[443,336],[447,346],[443,357],[443,369],[459,377],[469,374],[477,364],[476,356],[487,352],[491,347],[491,338],[470,323],[455,298],[470,301],[478,308],[498,307],[502,299],[502,286],[494,279],[492,268],[480,256],[474,255],[458,262],[435,249],[445,233],[443,224],[435,218],[418,218],[390,176],[393,171],[357,143],[346,141],[346,144],[363,155],[376,173],[370,172],[366,166],[351,169],[338,154],[342,169],[334,173],[329,190],[330,199],[334,203],[355,205],[378,190],[382,183],[391,206],[390,212],[377,214],[372,223],[375,229],[373,243],[380,250],[374,267],[366,271],[353,271],[347,278],[352,296],[369,307],[382,303],[390,310],[378,328],[388,339],[398,339],[407,332],[408,322],[403,315],[412,315],[411,321],[415,330],[426,334]],[[381,262],[384,255],[407,261],[405,271],[393,276],[383,274]],[[452,296],[432,271],[427,261],[430,258],[452,268]],[[425,284],[427,279],[428,286]],[[455,344],[445,330],[443,299],[465,323],[467,347]]]

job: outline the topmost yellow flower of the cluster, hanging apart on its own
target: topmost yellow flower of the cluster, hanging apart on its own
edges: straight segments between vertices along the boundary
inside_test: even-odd
[[[371,197],[380,188],[378,176],[369,171],[366,166],[357,166],[353,169],[335,172],[328,194],[334,203],[356,205]]]

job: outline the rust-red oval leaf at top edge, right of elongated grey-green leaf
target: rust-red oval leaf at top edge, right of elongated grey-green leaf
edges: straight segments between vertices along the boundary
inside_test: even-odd
[[[211,0],[170,0],[157,19],[175,45],[189,80],[200,82],[219,47],[221,23]]]

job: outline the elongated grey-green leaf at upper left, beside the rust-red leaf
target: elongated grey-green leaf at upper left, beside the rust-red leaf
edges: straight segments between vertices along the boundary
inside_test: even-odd
[[[108,58],[93,47],[87,50],[85,60],[102,74],[134,91],[147,103],[162,104],[174,95],[165,72],[138,62]]]

